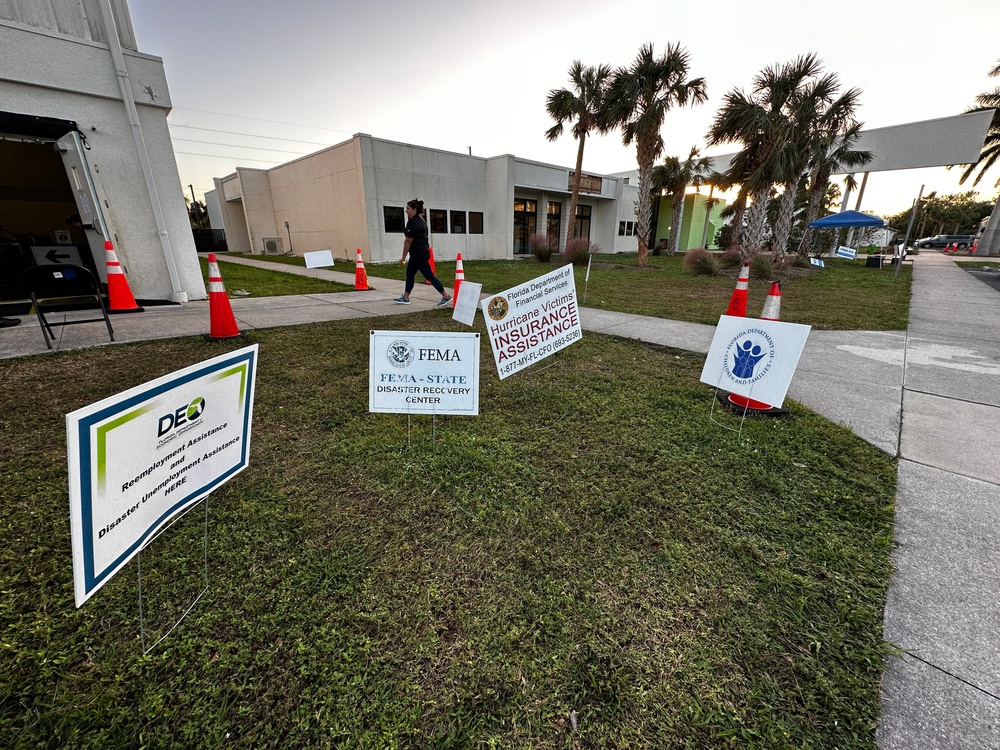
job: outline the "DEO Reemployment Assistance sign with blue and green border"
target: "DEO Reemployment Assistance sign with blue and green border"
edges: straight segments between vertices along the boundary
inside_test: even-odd
[[[256,370],[254,345],[66,415],[77,607],[246,468]]]

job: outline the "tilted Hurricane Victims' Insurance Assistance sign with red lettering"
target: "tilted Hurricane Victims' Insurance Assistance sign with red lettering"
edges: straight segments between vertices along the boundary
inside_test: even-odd
[[[482,309],[501,380],[583,338],[569,264],[484,299]]]

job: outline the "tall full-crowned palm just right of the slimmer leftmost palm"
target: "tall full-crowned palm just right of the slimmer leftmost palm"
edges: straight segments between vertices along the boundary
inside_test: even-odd
[[[674,106],[708,99],[705,79],[688,78],[689,59],[680,44],[668,44],[660,57],[654,57],[652,44],[644,44],[632,65],[614,72],[608,88],[602,121],[609,128],[621,128],[626,146],[635,143],[640,195],[636,240],[643,268],[649,265],[650,188],[653,162],[663,153],[663,121]]]

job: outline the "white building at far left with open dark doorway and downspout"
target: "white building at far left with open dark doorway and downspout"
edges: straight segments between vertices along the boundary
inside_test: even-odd
[[[0,2],[0,299],[48,254],[105,279],[105,236],[136,298],[206,296],[170,108],[126,0]]]

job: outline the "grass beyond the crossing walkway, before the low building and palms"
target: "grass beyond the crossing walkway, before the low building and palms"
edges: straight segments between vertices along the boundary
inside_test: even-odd
[[[266,260],[277,258],[281,259],[278,262],[304,265],[302,258],[296,257],[268,256]],[[684,272],[681,263],[682,256],[650,256],[651,268],[640,270],[635,255],[597,255],[589,283],[586,268],[576,269],[577,296],[587,307],[714,325],[729,305],[736,286],[736,272],[725,276],[692,276]],[[826,259],[826,264],[825,269],[796,269],[782,281],[782,320],[811,325],[819,330],[906,329],[913,271],[909,264],[903,265],[898,276],[890,266],[865,268],[860,260],[832,258]],[[482,284],[483,291],[489,294],[529,281],[560,264],[557,258],[550,264],[525,258],[470,260],[463,261],[462,265],[466,280]],[[239,288],[229,279],[229,269],[234,267],[234,263],[223,264],[222,273],[229,290]],[[455,278],[455,262],[441,261],[435,263],[435,267],[442,282],[450,287]],[[370,263],[366,270],[372,277],[400,282],[405,278],[404,267],[395,263]],[[417,280],[423,283],[419,275]],[[294,282],[287,283],[289,289],[295,288]],[[748,312],[751,316],[760,314],[769,289],[769,282],[750,281]]]

